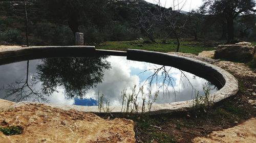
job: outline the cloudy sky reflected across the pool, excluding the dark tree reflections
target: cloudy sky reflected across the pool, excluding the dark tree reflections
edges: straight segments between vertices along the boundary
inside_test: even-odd
[[[139,87],[143,85],[145,96],[148,97],[148,77],[154,74],[155,70],[162,66],[155,65],[145,62],[127,61],[126,57],[121,56],[109,56],[106,59],[111,63],[111,69],[104,71],[104,77],[102,83],[98,83],[96,88],[91,88],[88,90],[83,99],[68,99],[65,96],[65,89],[63,87],[57,87],[57,91],[51,96],[46,96],[50,103],[54,104],[76,104],[76,105],[97,105],[98,92],[104,95],[104,101],[110,101],[110,105],[121,105],[121,92],[126,89],[126,94],[132,93],[134,85],[136,86],[136,92],[138,92]],[[29,64],[29,80],[37,75],[36,66],[41,64],[40,60],[30,61]],[[199,91],[200,95],[203,95],[203,85],[207,83],[207,80],[197,77],[193,74],[187,72],[181,72],[179,69],[172,67],[165,67],[168,71],[168,75],[172,78],[172,86],[167,87],[166,81],[163,84],[163,77],[160,70],[157,74],[158,80],[156,78],[152,79],[152,94],[159,91],[156,103],[169,103],[176,101],[190,100],[195,97],[195,90]],[[12,63],[9,65],[0,66],[0,98],[6,96],[6,87],[8,84],[15,82],[16,80],[26,79],[27,74],[27,62]],[[184,74],[183,74],[184,73]],[[158,81],[158,82],[157,82]],[[165,86],[161,86],[165,85]],[[193,88],[192,86],[193,85]],[[216,89],[214,85],[210,85],[213,90],[210,93],[215,92]],[[164,87],[164,88],[161,88]],[[41,82],[35,84],[32,89],[40,90]],[[175,91],[175,92],[174,92]],[[175,94],[174,94],[175,93]],[[12,100],[14,97],[8,97],[6,99]],[[33,98],[27,99],[32,101]],[[138,102],[142,104],[142,97],[139,94]]]

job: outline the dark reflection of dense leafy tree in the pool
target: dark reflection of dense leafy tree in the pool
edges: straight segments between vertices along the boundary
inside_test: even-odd
[[[44,94],[51,94],[62,86],[67,97],[82,98],[90,88],[102,82],[104,69],[111,68],[105,58],[44,59],[43,64],[37,66],[37,79],[42,81]]]

